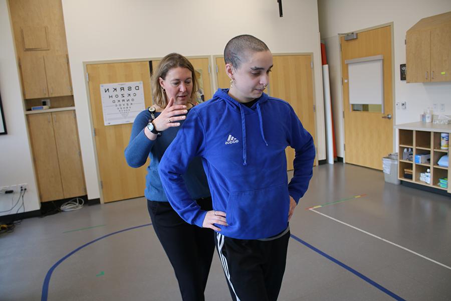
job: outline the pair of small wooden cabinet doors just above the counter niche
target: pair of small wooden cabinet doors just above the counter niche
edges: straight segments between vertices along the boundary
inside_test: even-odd
[[[19,66],[26,99],[72,95],[66,55],[24,55]]]

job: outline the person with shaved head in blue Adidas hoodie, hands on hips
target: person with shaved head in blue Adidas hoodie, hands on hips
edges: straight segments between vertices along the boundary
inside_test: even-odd
[[[285,272],[288,221],[307,191],[315,147],[290,104],[264,93],[273,57],[242,35],[224,50],[230,89],[194,107],[159,173],[169,202],[188,223],[215,230],[216,248],[234,300],[276,300]],[[288,183],[285,148],[295,149]],[[213,201],[205,211],[186,190],[189,162],[202,158]],[[288,184],[287,184],[288,183]]]

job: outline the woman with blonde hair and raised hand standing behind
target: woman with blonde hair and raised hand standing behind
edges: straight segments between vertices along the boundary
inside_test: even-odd
[[[136,116],[125,159],[131,167],[147,167],[147,209],[153,228],[175,271],[184,301],[204,300],[204,289],[214,252],[211,229],[187,224],[172,209],[161,186],[158,165],[166,148],[193,107],[197,80],[191,63],[183,56],[165,56],[152,75],[155,104]],[[211,198],[199,158],[186,168],[184,179],[190,197],[202,210],[211,210]],[[169,193],[170,195],[170,193]]]

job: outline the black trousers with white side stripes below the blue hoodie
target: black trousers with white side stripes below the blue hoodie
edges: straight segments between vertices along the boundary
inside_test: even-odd
[[[269,241],[215,233],[215,243],[234,301],[276,301],[287,261],[290,231]]]

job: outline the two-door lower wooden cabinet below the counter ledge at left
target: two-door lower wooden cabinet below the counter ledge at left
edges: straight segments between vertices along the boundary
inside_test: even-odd
[[[86,195],[75,111],[27,119],[41,202]]]

